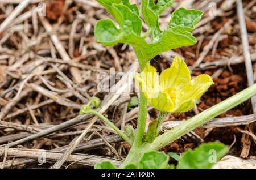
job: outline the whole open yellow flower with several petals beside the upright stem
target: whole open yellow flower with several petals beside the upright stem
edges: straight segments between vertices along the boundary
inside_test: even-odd
[[[206,74],[191,80],[187,65],[179,57],[174,58],[171,67],[164,70],[160,78],[150,63],[134,78],[148,104],[162,112],[182,113],[191,110],[196,100],[214,84]]]

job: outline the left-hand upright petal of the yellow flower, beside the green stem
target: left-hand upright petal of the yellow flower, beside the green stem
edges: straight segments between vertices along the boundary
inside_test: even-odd
[[[141,92],[147,98],[156,98],[159,93],[159,76],[156,72],[155,67],[151,66],[150,63],[146,65],[141,75],[138,73],[134,74],[134,79]]]

